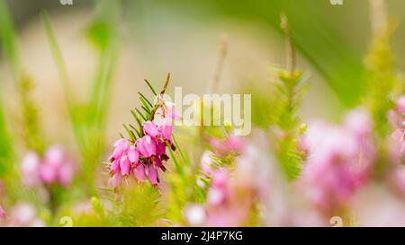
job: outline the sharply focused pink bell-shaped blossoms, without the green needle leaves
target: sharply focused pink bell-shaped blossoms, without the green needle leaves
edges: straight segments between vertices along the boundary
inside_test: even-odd
[[[114,188],[120,186],[122,179],[129,176],[139,182],[143,182],[147,177],[152,185],[157,185],[158,170],[166,171],[163,164],[168,160],[166,144],[175,150],[172,139],[173,119],[180,118],[180,115],[169,102],[163,102],[155,115],[161,118],[155,117],[157,119],[144,122],[143,134],[135,142],[120,139],[114,144],[114,152],[109,158]]]

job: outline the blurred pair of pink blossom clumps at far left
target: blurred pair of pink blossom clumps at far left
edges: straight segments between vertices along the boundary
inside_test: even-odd
[[[23,158],[23,183],[30,187],[40,184],[67,187],[74,178],[75,166],[76,163],[59,145],[49,147],[42,158],[38,153],[30,152]]]

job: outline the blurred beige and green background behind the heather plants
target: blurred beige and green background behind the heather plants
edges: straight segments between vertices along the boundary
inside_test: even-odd
[[[48,10],[70,80],[78,97],[85,100],[98,58],[85,36],[85,29],[98,11],[95,3],[6,2],[18,30],[24,67],[35,80],[34,98],[39,103],[42,127],[53,138],[71,138],[68,130],[60,130],[68,128],[69,123],[40,11]],[[364,57],[371,36],[366,0],[345,0],[343,5],[332,5],[329,0],[107,2],[111,2],[111,8],[105,18],[119,14],[116,28],[121,41],[112,79],[110,139],[117,136],[121,122],[130,119],[128,111],[138,103],[135,95],[142,89],[144,78],[157,85],[171,72],[172,85],[183,86],[184,92],[204,92],[214,74],[224,35],[228,37],[228,56],[220,92],[268,83],[272,75],[269,68],[284,66],[280,13],[289,18],[299,49],[298,66],[308,73],[311,83],[310,95],[303,101],[304,119],[336,120],[360,99],[365,82]],[[387,4],[389,13],[399,23],[393,37],[395,57],[403,57],[405,3],[390,0]],[[405,66],[400,59],[396,62]],[[13,107],[13,89],[7,87],[10,74],[3,61],[1,68],[4,89],[10,91],[6,92],[5,105]]]

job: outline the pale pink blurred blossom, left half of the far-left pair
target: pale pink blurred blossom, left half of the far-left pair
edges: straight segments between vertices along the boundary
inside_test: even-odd
[[[29,187],[40,185],[40,157],[37,153],[27,153],[23,158],[21,166],[23,183]]]

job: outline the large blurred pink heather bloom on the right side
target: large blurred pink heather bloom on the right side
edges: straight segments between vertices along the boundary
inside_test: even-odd
[[[364,114],[353,113],[360,112],[350,113],[345,127],[318,122],[303,138],[310,156],[302,181],[308,185],[311,201],[324,211],[347,204],[365,185],[374,161],[371,124]]]

